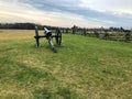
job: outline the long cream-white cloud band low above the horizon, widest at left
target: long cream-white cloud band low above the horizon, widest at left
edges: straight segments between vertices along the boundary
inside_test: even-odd
[[[58,26],[73,26],[74,24],[78,26],[99,26],[97,23],[94,24],[72,13],[41,11],[18,0],[12,2],[11,0],[0,1],[0,22],[35,22]]]

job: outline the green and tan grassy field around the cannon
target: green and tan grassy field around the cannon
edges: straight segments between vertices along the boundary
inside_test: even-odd
[[[34,31],[0,30],[0,99],[132,99],[132,44],[63,35],[58,53]]]

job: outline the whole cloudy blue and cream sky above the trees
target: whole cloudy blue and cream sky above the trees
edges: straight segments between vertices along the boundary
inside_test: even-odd
[[[132,28],[132,0],[0,0],[0,23]]]

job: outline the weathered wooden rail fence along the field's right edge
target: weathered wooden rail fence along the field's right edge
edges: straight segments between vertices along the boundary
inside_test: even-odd
[[[79,34],[101,40],[132,42],[132,30],[61,29],[62,33]]]

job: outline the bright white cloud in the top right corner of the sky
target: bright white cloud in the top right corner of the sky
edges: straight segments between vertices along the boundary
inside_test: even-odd
[[[117,11],[132,14],[132,0],[81,0],[81,6],[98,11]]]

